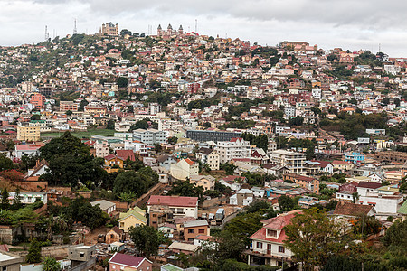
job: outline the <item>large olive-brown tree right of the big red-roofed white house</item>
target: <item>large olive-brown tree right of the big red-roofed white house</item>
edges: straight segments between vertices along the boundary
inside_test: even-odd
[[[302,263],[303,270],[324,266],[329,257],[345,250],[341,225],[316,208],[298,212],[284,230],[284,245],[295,255],[294,261]]]

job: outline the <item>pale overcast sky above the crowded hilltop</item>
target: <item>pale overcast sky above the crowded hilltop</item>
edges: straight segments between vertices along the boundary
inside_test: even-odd
[[[168,23],[186,32],[240,38],[261,45],[309,42],[407,57],[407,1],[402,0],[0,0],[0,45],[42,42],[50,37],[97,33],[102,23],[156,34]]]

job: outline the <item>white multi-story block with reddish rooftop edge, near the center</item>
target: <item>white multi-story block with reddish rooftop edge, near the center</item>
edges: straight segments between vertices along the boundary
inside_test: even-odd
[[[230,141],[220,141],[216,145],[221,164],[235,158],[251,158],[251,144],[243,138],[232,138]]]

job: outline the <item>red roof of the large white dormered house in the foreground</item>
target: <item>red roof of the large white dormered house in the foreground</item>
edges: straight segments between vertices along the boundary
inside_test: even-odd
[[[273,243],[282,244],[284,239],[286,238],[286,232],[284,227],[289,225],[289,221],[296,216],[296,214],[301,213],[302,210],[291,210],[288,213],[281,214],[275,218],[269,220],[263,220],[263,228],[259,229],[255,232],[250,238],[257,239],[257,240],[265,240],[270,241]],[[266,237],[266,230],[267,229],[280,229],[279,238],[268,238]]]

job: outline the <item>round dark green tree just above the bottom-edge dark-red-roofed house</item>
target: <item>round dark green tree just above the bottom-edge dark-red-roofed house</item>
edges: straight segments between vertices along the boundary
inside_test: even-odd
[[[128,234],[134,242],[138,255],[150,257],[157,253],[160,244],[157,231],[153,227],[147,225],[130,227]]]

